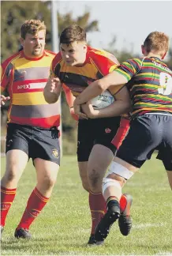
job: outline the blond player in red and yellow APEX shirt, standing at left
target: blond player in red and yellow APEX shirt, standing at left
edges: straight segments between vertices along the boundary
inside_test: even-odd
[[[17,182],[32,158],[37,172],[37,185],[17,227],[17,238],[29,238],[29,226],[50,198],[60,164],[57,103],[47,104],[43,88],[50,75],[54,53],[44,50],[46,27],[43,22],[25,21],[21,26],[23,50],[2,63],[1,104],[10,100],[6,136],[6,173],[1,187],[1,228],[5,226],[9,207],[17,190]],[[73,95],[66,92],[69,105]]]

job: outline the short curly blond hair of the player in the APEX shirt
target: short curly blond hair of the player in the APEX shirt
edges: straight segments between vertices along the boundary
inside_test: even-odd
[[[25,21],[21,26],[21,38],[25,39],[26,34],[35,35],[40,30],[44,30],[46,34],[46,25],[44,21],[39,20],[29,20]]]

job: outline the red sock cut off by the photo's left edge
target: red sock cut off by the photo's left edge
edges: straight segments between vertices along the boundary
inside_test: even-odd
[[[13,203],[13,199],[16,195],[15,189],[7,189],[4,186],[1,186],[1,225],[4,227],[6,223],[6,216],[9,212],[9,208]]]

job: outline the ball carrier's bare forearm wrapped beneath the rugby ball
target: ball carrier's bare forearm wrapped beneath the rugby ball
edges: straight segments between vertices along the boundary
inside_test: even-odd
[[[113,116],[123,115],[130,111],[131,104],[130,102],[124,102],[122,100],[116,100],[113,104],[108,107],[104,107],[99,110],[94,111],[94,115],[92,115],[92,119],[101,119],[108,118]]]

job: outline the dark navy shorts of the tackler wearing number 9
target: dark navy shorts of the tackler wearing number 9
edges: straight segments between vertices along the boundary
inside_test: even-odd
[[[155,149],[166,170],[172,171],[172,115],[144,114],[133,119],[116,156],[140,168]]]

